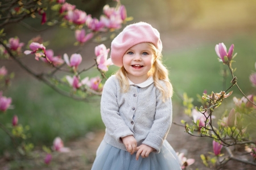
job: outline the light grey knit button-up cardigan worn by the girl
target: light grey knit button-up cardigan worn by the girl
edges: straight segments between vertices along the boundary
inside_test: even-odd
[[[133,135],[138,146],[146,144],[159,153],[172,122],[171,98],[163,102],[161,97],[153,82],[144,87],[130,85],[127,93],[121,93],[115,75],[109,77],[101,97],[105,142],[126,150],[121,138]]]

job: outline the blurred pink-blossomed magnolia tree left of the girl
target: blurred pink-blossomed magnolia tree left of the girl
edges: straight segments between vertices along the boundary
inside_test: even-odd
[[[0,59],[11,60],[20,65],[25,71],[30,73],[38,80],[44,82],[56,92],[64,96],[72,97],[77,100],[88,101],[93,95],[101,95],[102,82],[106,80],[105,73],[108,71],[112,61],[108,59],[109,49],[104,44],[101,44],[108,36],[104,37],[108,32],[112,32],[110,37],[113,38],[113,32],[119,30],[123,24],[132,20],[132,17],[127,17],[126,8],[121,2],[116,1],[115,7],[105,5],[103,14],[100,18],[92,18],[92,15],[86,14],[85,11],[77,9],[75,5],[65,2],[65,0],[27,0],[27,1],[4,1],[0,3]],[[46,42],[40,36],[27,43],[22,42],[17,36],[9,38],[5,34],[5,26],[10,23],[22,22],[25,18],[40,18],[41,23],[51,26],[60,26],[70,28],[77,40],[75,45],[80,47],[86,45],[86,42],[94,40],[98,45],[92,49],[94,51],[94,64],[81,68],[80,64],[83,56],[77,51],[71,56],[68,56],[65,51],[61,55],[55,55],[51,49],[46,48]],[[27,44],[28,49],[25,49]],[[32,71],[30,65],[22,62],[24,57],[34,55],[38,62],[46,63],[51,71],[36,73]],[[81,73],[89,69],[96,68],[98,71],[97,77],[81,77]],[[64,77],[60,77],[58,72],[67,73]],[[13,73],[9,73],[4,65],[0,66],[0,113],[5,115],[8,109],[12,109],[10,97],[4,95],[7,87],[10,86],[10,80],[14,78]],[[63,88],[65,86],[66,88]],[[68,90],[67,90],[68,87]],[[11,121],[10,121],[11,122]],[[34,148],[34,144],[26,143],[29,137],[27,131],[28,126],[23,127],[18,123],[18,115],[14,115],[12,126],[8,127],[0,122],[0,128],[4,130],[13,140],[14,147],[19,151],[19,154],[26,155]],[[44,146],[43,150],[47,152],[44,162],[49,164],[52,160],[51,153],[68,152],[69,148],[65,148],[63,141],[56,137],[51,148]]]

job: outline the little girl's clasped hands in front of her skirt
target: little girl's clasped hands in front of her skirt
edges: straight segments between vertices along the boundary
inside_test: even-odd
[[[154,148],[147,146],[146,144],[142,144],[141,146],[137,147],[137,141],[132,135],[123,137],[122,141],[123,144],[125,144],[126,150],[130,152],[131,155],[137,151],[136,160],[139,160],[139,155],[141,155],[143,158],[148,157],[150,152],[154,151]]]

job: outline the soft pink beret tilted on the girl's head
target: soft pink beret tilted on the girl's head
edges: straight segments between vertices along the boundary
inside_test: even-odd
[[[130,24],[118,34],[111,43],[111,60],[114,65],[122,67],[123,55],[125,52],[139,43],[152,43],[162,51],[163,45],[160,40],[158,30],[153,28],[150,24],[139,22]]]

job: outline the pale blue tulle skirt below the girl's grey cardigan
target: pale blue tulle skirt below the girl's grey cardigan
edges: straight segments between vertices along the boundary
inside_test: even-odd
[[[113,147],[102,140],[98,147],[96,159],[92,170],[180,170],[179,159],[171,147],[164,140],[159,154],[153,152],[146,158],[139,156],[136,160],[136,153]]]

